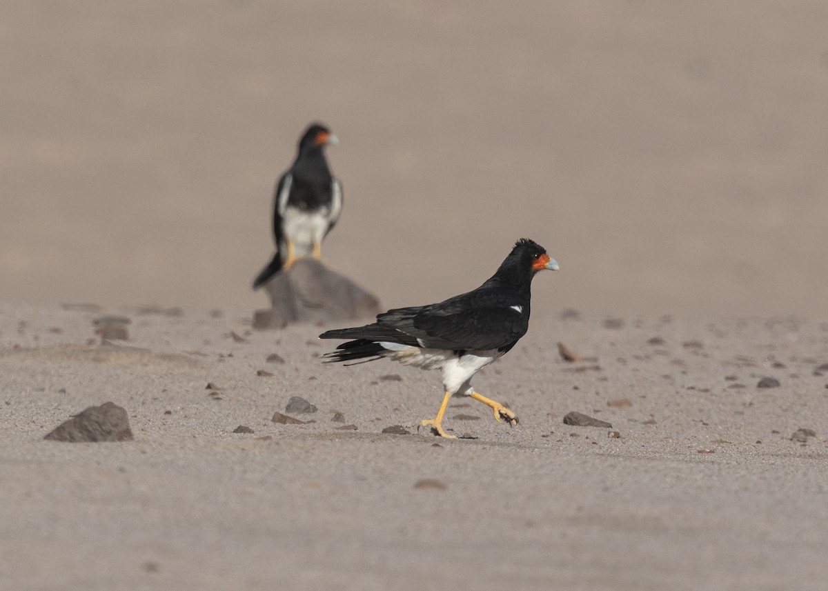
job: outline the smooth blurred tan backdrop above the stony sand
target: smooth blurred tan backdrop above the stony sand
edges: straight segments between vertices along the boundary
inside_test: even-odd
[[[0,302],[248,310],[307,123],[388,307],[828,312],[828,3],[0,1]]]

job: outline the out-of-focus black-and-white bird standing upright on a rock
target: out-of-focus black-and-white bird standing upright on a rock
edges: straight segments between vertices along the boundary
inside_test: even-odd
[[[342,211],[342,183],[330,174],[323,151],[338,143],[330,129],[313,123],[302,134],[293,165],[279,178],[273,204],[276,254],[255,281],[253,289],[297,258],[321,257],[322,239]]]

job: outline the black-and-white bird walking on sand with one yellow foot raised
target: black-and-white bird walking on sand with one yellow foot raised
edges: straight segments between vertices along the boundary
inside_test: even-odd
[[[537,271],[558,270],[546,250],[527,238],[518,240],[494,275],[474,291],[439,304],[397,308],[377,316],[373,324],[329,330],[320,339],[354,339],[325,353],[325,363],[391,358],[422,369],[440,369],[445,396],[434,419],[421,420],[436,435],[455,439],[443,430],[451,396],[470,396],[494,411],[494,419],[517,425],[508,408],[474,392],[471,378],[507,353],[526,334],[532,277]]]

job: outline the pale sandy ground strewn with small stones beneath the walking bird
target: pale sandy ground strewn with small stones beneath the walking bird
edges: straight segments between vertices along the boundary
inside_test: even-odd
[[[97,344],[103,313],[132,318],[128,342]],[[2,306],[3,586],[824,588],[828,325],[606,320],[537,316],[475,379],[521,424],[454,401],[445,426],[474,439],[441,440],[381,433],[436,413],[438,373],[322,365],[323,327]],[[272,423],[291,396],[314,423]],[[103,401],[128,410],[132,442],[42,440]],[[800,427],[816,438],[790,440]]]

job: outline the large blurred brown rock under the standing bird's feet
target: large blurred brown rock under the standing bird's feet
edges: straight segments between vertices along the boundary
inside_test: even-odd
[[[253,328],[282,329],[297,322],[373,320],[383,309],[377,296],[321,262],[303,258],[264,284],[269,310],[256,310]]]

